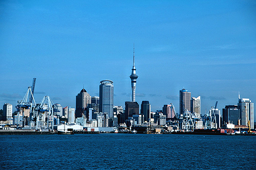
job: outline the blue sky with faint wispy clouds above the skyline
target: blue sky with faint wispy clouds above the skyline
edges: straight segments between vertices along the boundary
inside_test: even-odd
[[[178,112],[183,87],[201,95],[202,114],[237,104],[238,91],[256,103],[255,1],[0,1],[0,105],[37,78],[37,103],[75,107],[83,85],[98,96],[109,79],[124,107],[133,43],[136,101],[152,111]]]

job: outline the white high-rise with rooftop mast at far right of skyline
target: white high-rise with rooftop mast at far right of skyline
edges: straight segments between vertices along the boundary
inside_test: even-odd
[[[241,99],[239,96],[239,115],[241,119],[242,126],[249,126],[248,122],[250,120],[250,128],[253,129],[254,122],[254,104],[251,103],[250,99]]]

